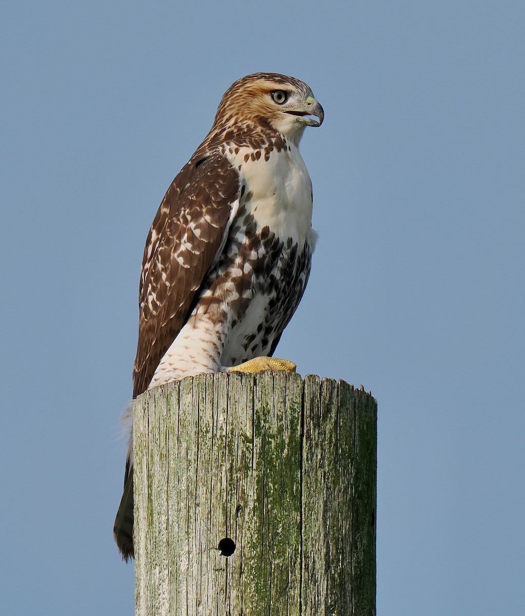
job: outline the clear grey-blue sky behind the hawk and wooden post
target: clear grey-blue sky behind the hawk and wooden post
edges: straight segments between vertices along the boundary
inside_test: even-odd
[[[279,355],[378,400],[378,614],[523,614],[525,4],[9,2],[0,612],[133,613],[112,538],[144,241],[226,88],[306,81]]]

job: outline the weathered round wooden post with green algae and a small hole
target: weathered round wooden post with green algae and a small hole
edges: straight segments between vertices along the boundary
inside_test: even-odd
[[[136,616],[375,614],[376,419],[370,394],[317,376],[140,395]]]

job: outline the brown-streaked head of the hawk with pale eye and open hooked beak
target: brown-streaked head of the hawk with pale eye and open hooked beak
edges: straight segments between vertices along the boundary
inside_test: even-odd
[[[245,124],[277,131],[298,143],[304,127],[320,126],[323,118],[323,108],[303,81],[277,73],[254,73],[238,79],[224,93],[211,132]]]

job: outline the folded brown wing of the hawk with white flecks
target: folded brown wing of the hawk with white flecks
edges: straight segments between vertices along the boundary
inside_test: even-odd
[[[142,259],[133,397],[147,389],[189,317],[237,197],[238,172],[218,152],[195,153],[168,188]]]

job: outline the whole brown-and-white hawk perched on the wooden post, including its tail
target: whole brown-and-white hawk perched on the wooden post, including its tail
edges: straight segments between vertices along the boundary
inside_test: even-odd
[[[298,146],[304,128],[323,118],[311,89],[293,77],[256,73],[226,91],[146,240],[134,398],[201,372],[295,370],[272,355],[310,272],[312,184]],[[126,560],[131,465],[130,455],[114,529]]]

